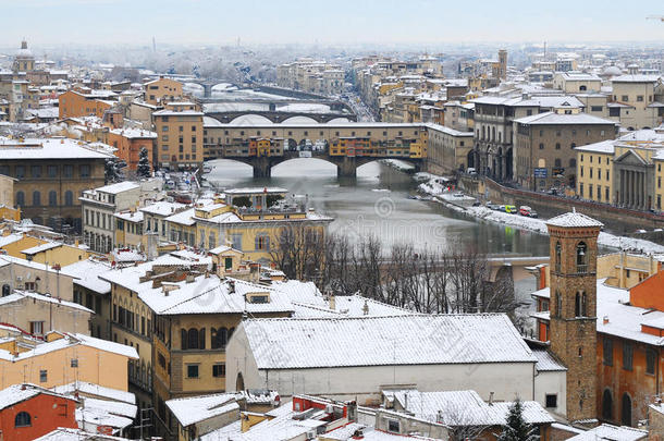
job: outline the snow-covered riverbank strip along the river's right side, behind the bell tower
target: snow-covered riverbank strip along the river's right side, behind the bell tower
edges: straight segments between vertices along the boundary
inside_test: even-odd
[[[441,184],[441,176],[434,176],[428,182],[422,183],[418,186],[418,189],[422,193],[427,193],[432,196],[440,196],[446,193],[446,188]],[[442,182],[442,181],[441,181]],[[450,208],[466,212],[478,219],[483,219],[490,222],[503,223],[505,225],[516,226],[522,230],[534,231],[540,234],[548,234],[546,219],[533,219],[527,218],[520,215],[511,215],[503,211],[494,211],[487,207],[468,207],[462,208],[452,204],[446,204],[444,200],[436,198],[441,204],[445,204]],[[642,238],[617,236],[615,234],[600,232],[598,237],[598,244],[611,248],[624,249],[630,252],[641,252],[644,254],[661,254],[664,253],[664,246],[655,244],[650,241]]]

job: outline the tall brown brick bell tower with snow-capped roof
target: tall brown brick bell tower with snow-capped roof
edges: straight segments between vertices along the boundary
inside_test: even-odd
[[[567,419],[597,418],[597,261],[602,223],[576,211],[546,222],[551,351],[567,367]],[[590,421],[589,421],[590,422]]]

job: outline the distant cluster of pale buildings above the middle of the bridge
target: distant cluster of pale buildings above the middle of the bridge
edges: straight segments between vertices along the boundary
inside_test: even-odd
[[[276,66],[276,85],[324,96],[341,96],[345,87],[341,64],[324,60],[298,59]]]

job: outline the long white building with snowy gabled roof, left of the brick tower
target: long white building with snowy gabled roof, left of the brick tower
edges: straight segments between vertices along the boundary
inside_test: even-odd
[[[226,346],[226,391],[376,404],[398,385],[536,400],[537,363],[505,315],[249,319]]]

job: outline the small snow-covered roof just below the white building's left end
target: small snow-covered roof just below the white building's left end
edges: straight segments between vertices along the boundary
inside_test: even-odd
[[[182,427],[204,421],[229,412],[239,412],[239,405],[233,393],[175,399],[165,402]]]

